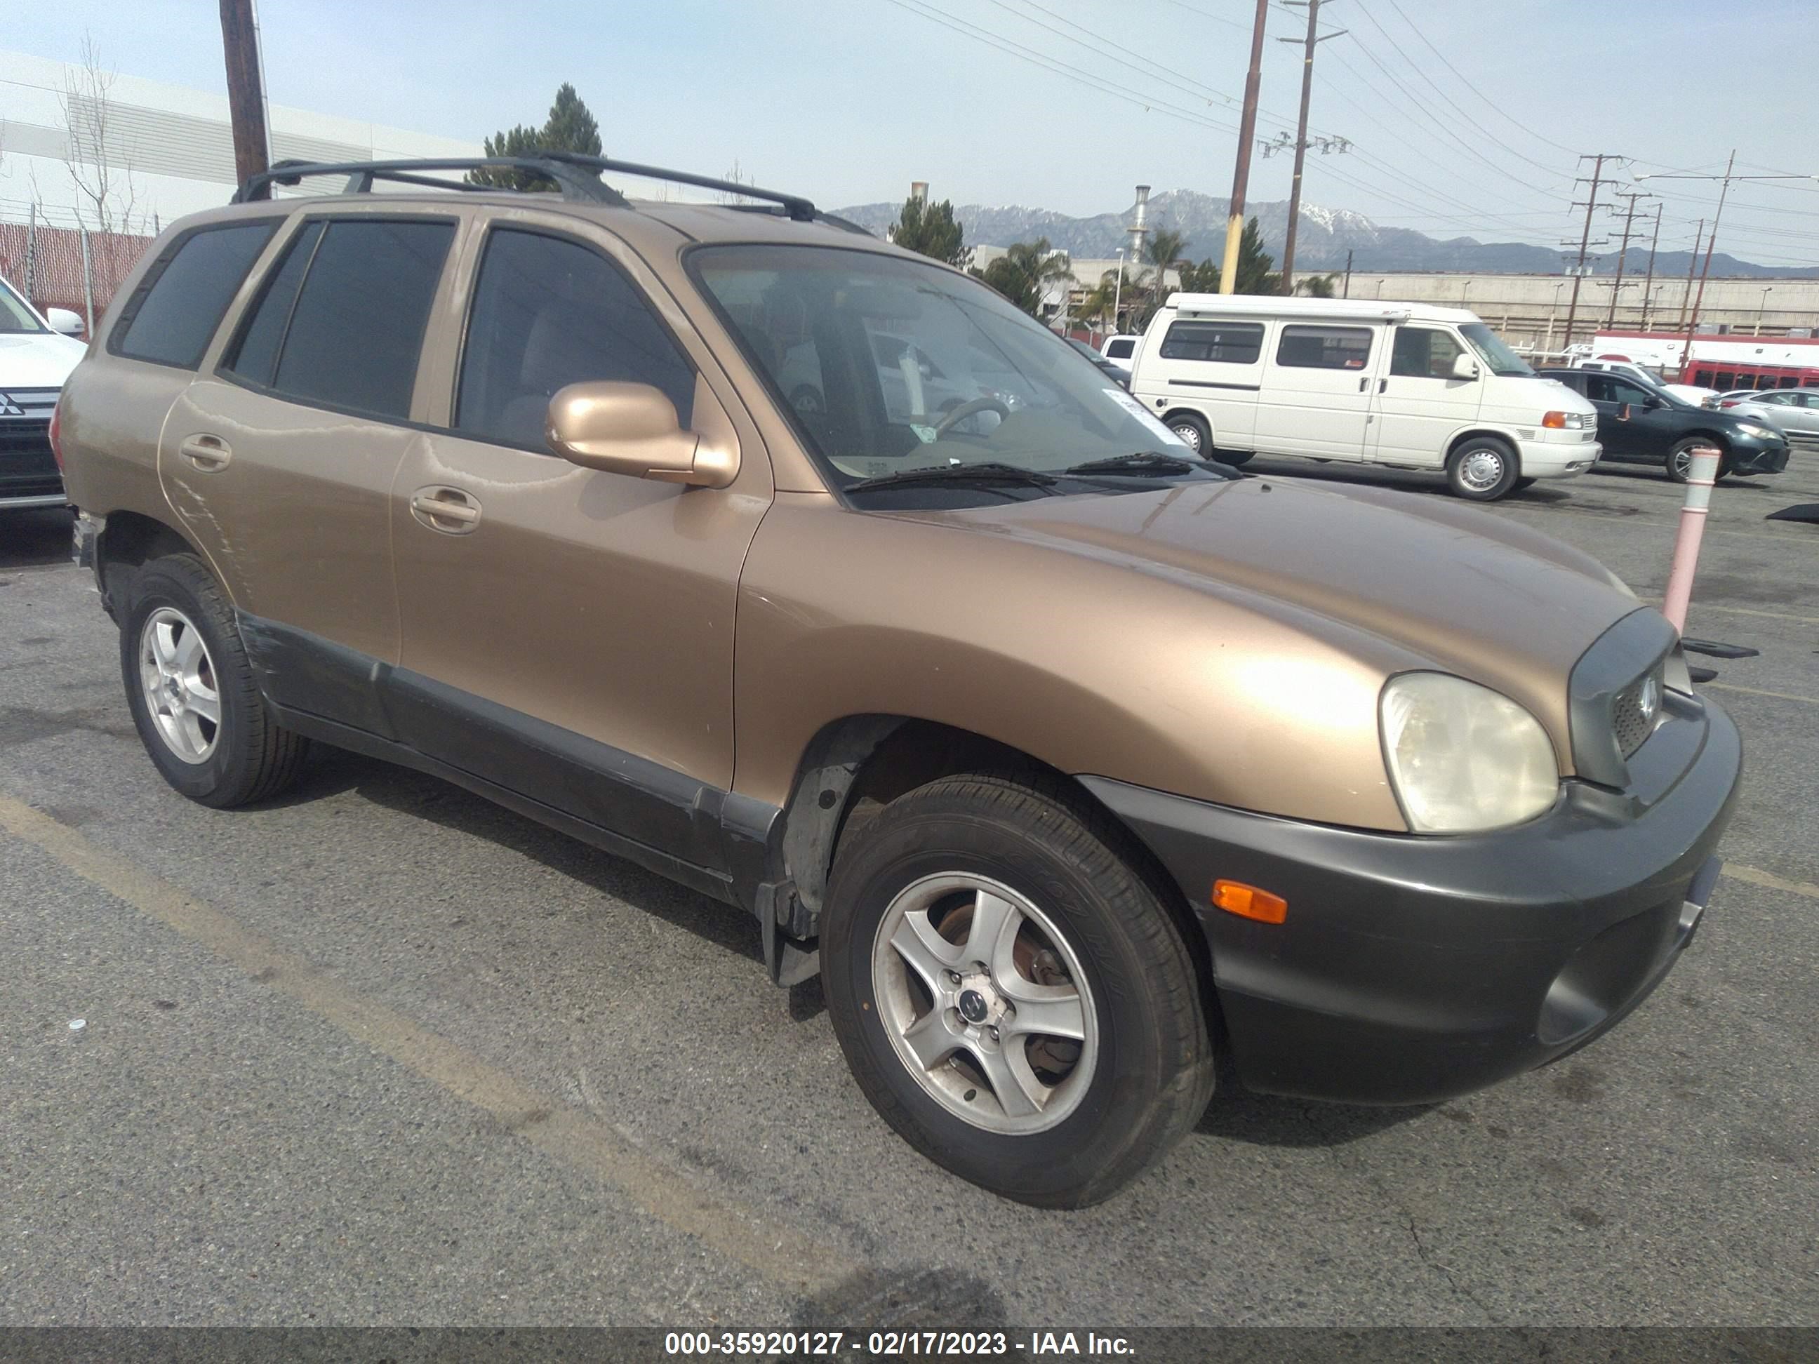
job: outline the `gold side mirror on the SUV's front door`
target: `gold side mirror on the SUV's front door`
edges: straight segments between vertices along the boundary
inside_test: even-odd
[[[588,469],[726,487],[739,451],[684,431],[675,404],[649,384],[589,380],[557,389],[544,438],[557,455]]]

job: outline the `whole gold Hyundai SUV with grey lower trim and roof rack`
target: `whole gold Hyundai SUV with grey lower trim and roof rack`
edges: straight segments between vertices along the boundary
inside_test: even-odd
[[[482,164],[551,193],[438,178]],[[158,238],[55,426],[173,787],[346,747],[751,913],[1010,1199],[1115,1191],[1221,1053],[1390,1104],[1546,1064],[1717,875],[1737,731],[1595,560],[1201,460],[791,195],[282,165]]]

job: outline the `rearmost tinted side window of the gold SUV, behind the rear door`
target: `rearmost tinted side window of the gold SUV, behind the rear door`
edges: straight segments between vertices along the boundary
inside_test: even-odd
[[[276,218],[258,218],[198,227],[176,238],[120,309],[107,349],[129,360],[195,369],[276,226]]]

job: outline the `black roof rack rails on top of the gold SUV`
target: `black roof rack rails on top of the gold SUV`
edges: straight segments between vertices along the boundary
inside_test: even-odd
[[[433,189],[493,189],[491,186],[471,186],[460,180],[438,180],[424,175],[426,171],[478,169],[509,169],[544,176],[555,182],[564,200],[584,204],[611,204],[615,207],[628,207],[626,196],[598,178],[600,171],[617,171],[618,175],[637,175],[649,180],[695,186],[697,189],[717,189],[720,193],[740,195],[744,198],[760,198],[769,204],[777,204],[788,216],[799,222],[813,222],[815,218],[828,216],[824,213],[817,213],[815,206],[800,195],[782,195],[775,189],[759,189],[757,186],[742,186],[737,180],[717,180],[708,175],[691,175],[688,171],[666,171],[660,165],[640,165],[638,162],[615,162],[606,156],[582,156],[573,151],[540,149],[528,151],[522,156],[438,156],[431,160],[397,162],[286,160],[278,162],[269,171],[249,175],[229,202],[251,204],[255,200],[271,198],[271,186],[295,186],[306,175],[349,176],[346,189],[342,189],[344,195],[367,195],[373,191],[375,180],[427,186]]]

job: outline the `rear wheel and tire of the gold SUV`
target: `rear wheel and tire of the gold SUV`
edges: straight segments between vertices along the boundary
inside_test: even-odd
[[[233,609],[193,555],[131,578],[120,677],[153,766],[191,800],[227,809],[296,780],[309,740],[271,718]]]

